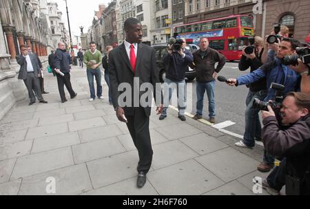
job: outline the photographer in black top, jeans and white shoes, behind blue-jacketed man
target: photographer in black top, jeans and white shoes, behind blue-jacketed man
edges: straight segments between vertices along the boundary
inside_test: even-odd
[[[260,61],[263,48],[263,40],[261,37],[254,37],[254,48],[252,46],[243,47],[242,57],[239,61],[239,70],[244,71],[249,67],[251,72],[262,66]],[[249,49],[249,50],[247,50]],[[249,53],[251,52],[251,53]],[[267,94],[266,78],[262,78],[254,83],[250,83],[249,94],[245,101],[247,108],[245,110],[245,134],[243,139],[235,143],[240,148],[252,148],[255,146],[255,140],[260,140],[262,128],[260,126],[260,119],[258,117],[258,108],[253,106],[254,99],[263,100]]]

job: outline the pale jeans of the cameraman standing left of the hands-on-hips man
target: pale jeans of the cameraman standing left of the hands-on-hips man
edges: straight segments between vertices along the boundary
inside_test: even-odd
[[[185,109],[187,105],[187,96],[186,96],[186,83],[183,81],[172,81],[170,79],[165,79],[164,83],[164,108],[161,115],[167,115],[167,109],[172,97],[172,90],[176,88],[176,94],[178,97],[178,115],[185,115]]]

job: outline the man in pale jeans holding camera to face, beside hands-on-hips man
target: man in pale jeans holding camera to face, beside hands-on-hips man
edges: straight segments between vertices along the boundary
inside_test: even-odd
[[[164,108],[160,120],[167,117],[167,108],[169,106],[172,89],[176,87],[178,97],[178,118],[181,121],[186,121],[185,109],[186,109],[186,83],[185,72],[188,68],[188,64],[193,62],[193,55],[188,50],[185,50],[186,42],[183,39],[176,39],[176,41],[170,45],[167,50],[168,54],[165,56],[163,63],[166,68],[166,78],[164,83]]]

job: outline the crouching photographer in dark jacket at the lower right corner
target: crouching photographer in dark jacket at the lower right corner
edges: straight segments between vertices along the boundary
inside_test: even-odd
[[[285,128],[279,126],[270,106],[268,110],[262,111],[262,141],[268,152],[285,159],[262,184],[276,191],[285,184],[287,195],[310,195],[310,96],[287,94],[280,110]]]

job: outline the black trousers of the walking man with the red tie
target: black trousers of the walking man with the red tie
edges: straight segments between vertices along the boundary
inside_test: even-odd
[[[139,155],[138,172],[149,171],[152,164],[153,150],[149,136],[149,117],[145,115],[144,108],[134,108],[134,115],[126,115],[127,128],[130,131],[134,146]]]

